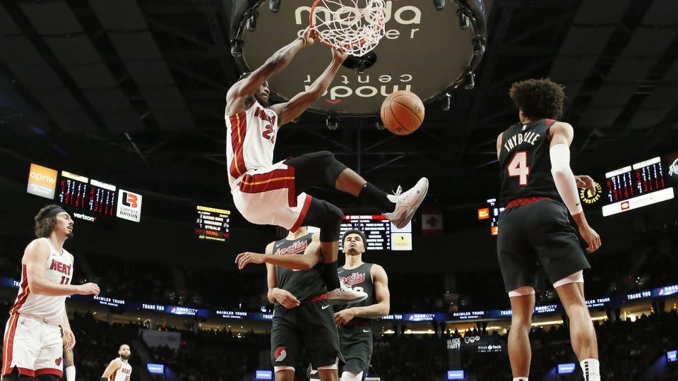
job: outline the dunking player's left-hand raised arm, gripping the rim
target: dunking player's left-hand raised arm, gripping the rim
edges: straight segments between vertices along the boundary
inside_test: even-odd
[[[245,111],[246,98],[254,94],[263,83],[266,83],[268,78],[283,70],[299,52],[299,49],[311,45],[313,42],[312,30],[310,27],[306,28],[302,37],[298,37],[290,44],[280,48],[248,77],[232,85],[226,95],[226,114],[234,115]]]

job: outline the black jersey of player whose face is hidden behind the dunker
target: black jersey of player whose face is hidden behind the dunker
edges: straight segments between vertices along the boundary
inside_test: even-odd
[[[311,244],[313,234],[300,236],[297,239],[281,239],[273,243],[273,255],[304,255],[304,251]],[[290,291],[299,301],[307,301],[327,292],[321,274],[321,263],[309,270],[290,270],[275,266],[275,280],[278,288]],[[278,302],[275,302],[278,306]]]

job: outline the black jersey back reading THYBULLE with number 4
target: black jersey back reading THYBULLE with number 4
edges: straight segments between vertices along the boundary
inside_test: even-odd
[[[549,128],[553,119],[516,123],[501,138],[501,204],[516,198],[547,197],[560,200],[551,174]]]

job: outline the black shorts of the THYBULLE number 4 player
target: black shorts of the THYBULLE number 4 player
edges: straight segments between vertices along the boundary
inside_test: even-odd
[[[591,267],[568,215],[565,205],[551,199],[499,214],[496,253],[506,292],[534,287],[538,265],[551,284]]]

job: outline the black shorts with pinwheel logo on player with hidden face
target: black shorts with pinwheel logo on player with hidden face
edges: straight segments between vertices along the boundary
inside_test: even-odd
[[[275,306],[270,330],[270,363],[295,367],[306,349],[314,368],[334,365],[340,356],[334,310],[326,300],[302,303],[287,310]]]

